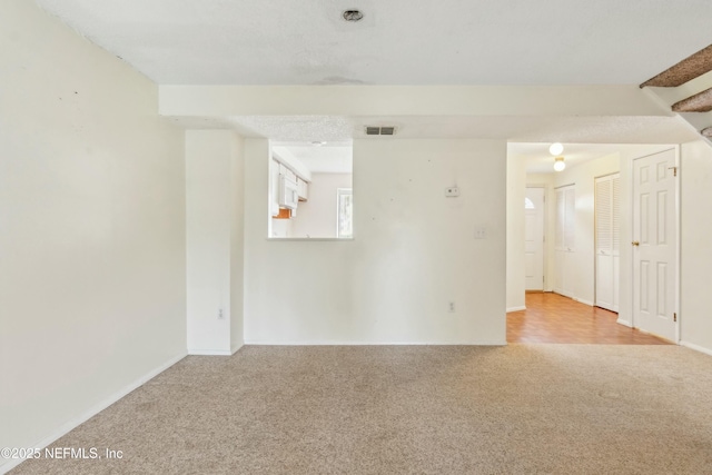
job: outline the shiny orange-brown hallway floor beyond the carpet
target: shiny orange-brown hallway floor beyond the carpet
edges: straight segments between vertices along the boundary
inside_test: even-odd
[[[553,293],[526,294],[526,310],[507,314],[507,343],[670,345],[616,323],[617,314]]]

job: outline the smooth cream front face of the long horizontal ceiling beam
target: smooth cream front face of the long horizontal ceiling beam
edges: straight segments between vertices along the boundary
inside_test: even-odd
[[[671,116],[635,86],[159,86],[162,116]]]

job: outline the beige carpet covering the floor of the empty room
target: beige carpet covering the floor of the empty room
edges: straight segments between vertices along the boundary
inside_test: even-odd
[[[12,474],[709,474],[678,346],[245,347],[187,357]]]

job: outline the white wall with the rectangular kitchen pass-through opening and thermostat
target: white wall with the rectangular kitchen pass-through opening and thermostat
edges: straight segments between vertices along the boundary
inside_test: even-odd
[[[505,344],[504,141],[356,140],[333,241],[266,239],[269,146],[245,145],[246,343]]]

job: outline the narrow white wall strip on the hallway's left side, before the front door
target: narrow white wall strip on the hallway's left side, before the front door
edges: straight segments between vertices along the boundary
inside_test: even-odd
[[[526,308],[526,270],[524,240],[524,198],[526,197],[526,167],[524,158],[507,157],[507,311]],[[497,199],[496,197],[493,198]]]

